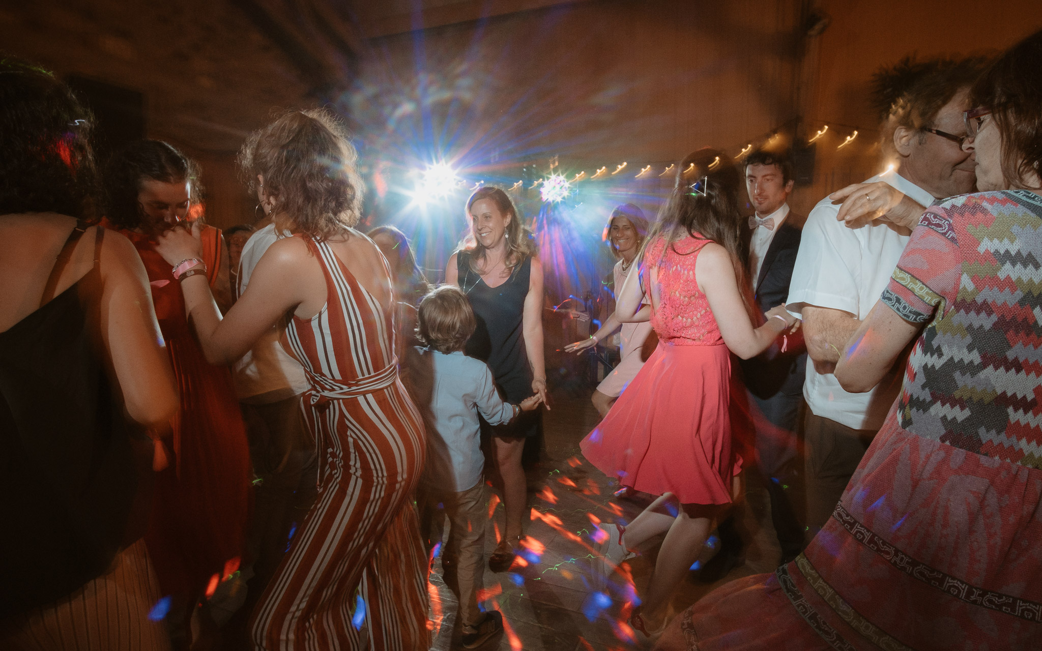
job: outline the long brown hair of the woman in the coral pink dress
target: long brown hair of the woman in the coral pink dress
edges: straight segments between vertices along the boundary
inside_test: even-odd
[[[724,152],[704,147],[685,156],[676,168],[669,200],[659,210],[659,219],[644,241],[640,259],[642,265],[660,261],[645,259],[648,247],[659,237],[664,239],[668,247],[688,235],[715,242],[730,256],[739,291],[751,314],[751,296],[746,289],[745,265],[742,264],[743,220],[738,208],[741,183],[738,170]],[[664,253],[665,250],[663,248]]]

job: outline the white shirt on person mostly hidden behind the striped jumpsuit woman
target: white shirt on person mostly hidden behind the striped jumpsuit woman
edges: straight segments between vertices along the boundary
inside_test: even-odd
[[[246,293],[253,269],[275,240],[273,224],[250,235],[239,262],[239,296]],[[307,391],[304,369],[278,343],[281,333],[281,328],[273,327],[232,367],[235,393],[243,402],[267,404]]]

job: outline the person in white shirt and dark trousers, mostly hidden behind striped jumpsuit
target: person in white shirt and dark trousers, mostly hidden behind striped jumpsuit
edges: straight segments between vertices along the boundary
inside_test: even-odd
[[[243,247],[235,296],[246,293],[254,268],[277,239],[270,221],[257,224],[259,230]],[[300,364],[282,350],[280,333],[280,328],[272,328],[232,368],[257,478],[247,536],[254,558],[242,608],[247,616],[274,576],[289,548],[291,532],[300,529],[317,495],[318,457],[300,411],[307,379]]]

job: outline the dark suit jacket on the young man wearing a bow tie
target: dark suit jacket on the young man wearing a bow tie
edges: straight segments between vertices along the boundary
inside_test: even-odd
[[[792,280],[792,269],[796,265],[796,251],[799,250],[803,221],[790,211],[767,248],[753,294],[759,309],[760,323],[755,324],[758,326],[764,321],[764,312],[785,303],[789,297],[789,282]],[[750,250],[752,230],[744,228],[743,232],[744,252],[747,254]],[[745,268],[749,268],[747,256]],[[760,355],[742,361],[745,385],[756,397],[766,399],[778,393],[788,396],[802,393],[803,376],[807,372],[803,333],[797,331],[795,334],[789,334],[787,340],[785,352],[782,352],[782,337],[778,337],[777,342]]]

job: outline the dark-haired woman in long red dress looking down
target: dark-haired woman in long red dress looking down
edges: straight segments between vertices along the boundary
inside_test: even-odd
[[[155,237],[191,214],[198,189],[194,164],[170,145],[141,141],[116,154],[106,176],[105,226],[126,235],[141,255],[159,328],[180,390],[174,462],[156,477],[146,542],[172,617],[188,621],[213,577],[238,566],[250,504],[246,430],[231,373],[206,362],[192,335],[180,287],[155,250]],[[221,232],[204,226],[201,255],[215,293],[227,301],[227,252]],[[185,629],[174,624],[175,640]]]

